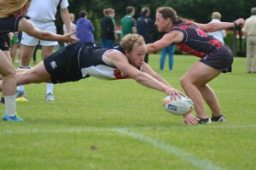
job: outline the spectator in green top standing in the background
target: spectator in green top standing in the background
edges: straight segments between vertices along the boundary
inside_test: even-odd
[[[121,19],[122,37],[129,33],[137,33],[137,23],[133,18],[135,8],[132,6],[126,7],[126,15]]]

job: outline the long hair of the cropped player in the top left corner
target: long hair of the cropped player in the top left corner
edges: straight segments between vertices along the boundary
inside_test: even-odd
[[[9,16],[15,14],[31,0],[0,0],[0,14]]]

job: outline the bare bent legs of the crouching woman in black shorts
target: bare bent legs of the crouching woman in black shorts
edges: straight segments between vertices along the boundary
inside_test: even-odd
[[[220,72],[221,71],[213,69],[199,61],[189,68],[189,71],[187,71],[180,80],[185,93],[195,104],[197,116],[202,119],[207,118],[203,98],[207,101],[212,112],[214,111],[216,114],[219,114],[220,112],[216,95],[212,91],[212,88],[207,86],[207,82],[210,82],[213,78],[217,77]]]

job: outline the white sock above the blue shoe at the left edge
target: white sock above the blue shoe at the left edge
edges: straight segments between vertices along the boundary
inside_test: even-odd
[[[8,116],[16,115],[16,101],[15,95],[11,96],[3,96],[4,97],[4,105],[5,105],[5,113]]]

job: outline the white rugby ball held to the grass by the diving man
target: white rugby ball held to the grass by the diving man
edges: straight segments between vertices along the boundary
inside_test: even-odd
[[[163,106],[169,113],[172,115],[183,116],[187,113],[190,113],[194,109],[194,103],[189,97],[183,96],[181,99],[176,97],[175,99],[171,99],[169,95],[167,95],[163,99]]]

